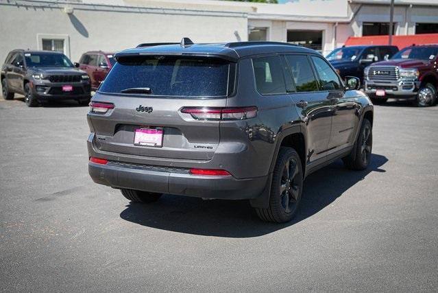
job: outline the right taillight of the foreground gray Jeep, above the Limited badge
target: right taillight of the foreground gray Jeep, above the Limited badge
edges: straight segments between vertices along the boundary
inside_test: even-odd
[[[197,120],[243,120],[257,116],[257,107],[241,108],[182,108],[181,113],[190,114]]]

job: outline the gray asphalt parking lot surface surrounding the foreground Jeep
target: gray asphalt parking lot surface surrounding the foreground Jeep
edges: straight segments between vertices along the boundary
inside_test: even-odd
[[[436,291],[438,106],[376,106],[372,165],[309,176],[297,218],[130,204],[88,178],[88,107],[0,99],[4,291]]]

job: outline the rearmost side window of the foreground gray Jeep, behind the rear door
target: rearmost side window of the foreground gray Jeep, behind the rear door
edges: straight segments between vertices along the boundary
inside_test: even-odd
[[[260,94],[286,93],[280,56],[253,58],[252,65]]]

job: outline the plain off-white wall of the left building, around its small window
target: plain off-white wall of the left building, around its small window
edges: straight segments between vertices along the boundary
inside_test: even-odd
[[[97,6],[95,6],[97,7]],[[179,42],[188,36],[198,43],[247,40],[247,17],[242,13],[190,12],[178,14],[35,8],[0,4],[0,63],[12,49],[38,49],[38,34],[67,36],[70,57],[84,51],[119,51],[147,42]]]

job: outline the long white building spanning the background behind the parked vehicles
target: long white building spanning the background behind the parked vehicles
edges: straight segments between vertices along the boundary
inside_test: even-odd
[[[438,32],[438,0],[395,0],[394,33]],[[299,0],[263,4],[215,0],[0,0],[0,62],[8,51],[84,51],[138,43],[276,40],[324,54],[349,36],[387,34],[389,0]]]

